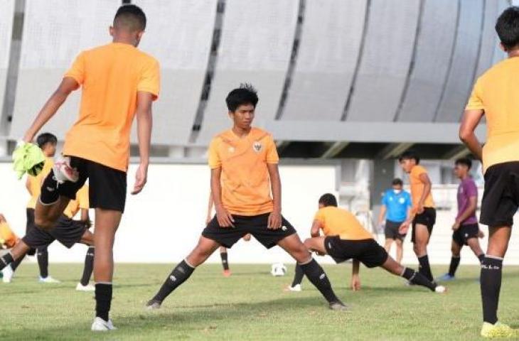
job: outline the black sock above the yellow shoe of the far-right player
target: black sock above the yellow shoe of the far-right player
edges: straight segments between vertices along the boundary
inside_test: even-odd
[[[486,256],[481,264],[481,301],[483,303],[483,321],[495,324],[498,322],[499,292],[503,259]]]

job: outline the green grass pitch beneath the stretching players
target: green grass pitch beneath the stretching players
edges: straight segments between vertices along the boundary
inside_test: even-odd
[[[288,276],[268,265],[234,265],[223,278],[219,265],[201,266],[161,310],[146,312],[171,266],[119,264],[112,319],[119,328],[90,332],[95,301],[76,292],[82,267],[51,264],[60,284],[36,282],[34,264],[23,264],[11,284],[0,283],[0,340],[475,340],[481,327],[478,268],[461,266],[449,293],[403,286],[382,269],[361,269],[362,291],[348,289],[351,266],[325,266],[348,313],[328,310],[305,279],[301,293],[284,293]],[[435,266],[442,274],[444,266]],[[505,267],[501,317],[519,324],[519,267]]]

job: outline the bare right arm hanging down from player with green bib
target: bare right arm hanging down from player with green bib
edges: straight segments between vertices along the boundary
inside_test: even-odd
[[[151,94],[151,92],[137,92],[137,109],[135,116],[137,117],[137,138],[139,139],[139,156],[141,157],[141,162],[135,174],[133,195],[141,193],[141,190],[148,180],[149,146],[151,144],[151,126],[153,126],[151,104],[153,103],[153,99],[154,94]]]

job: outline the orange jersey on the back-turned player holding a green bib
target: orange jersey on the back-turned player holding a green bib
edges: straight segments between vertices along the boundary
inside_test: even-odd
[[[64,77],[82,86],[82,97],[63,153],[127,171],[137,92],[159,96],[157,60],[133,45],[111,43],[80,53]]]

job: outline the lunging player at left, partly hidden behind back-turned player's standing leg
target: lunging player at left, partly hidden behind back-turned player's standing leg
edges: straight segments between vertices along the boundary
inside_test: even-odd
[[[81,211],[81,220],[73,220],[73,217]],[[85,256],[85,267],[80,283],[77,283],[77,291],[93,291],[93,286],[89,286],[90,276],[92,275],[94,263],[94,236],[88,230],[90,227],[90,218],[88,216],[88,186],[85,185],[77,192],[77,200],[70,200],[65,212],[58,220],[55,228],[46,232],[35,228],[31,229],[21,240],[12,246],[8,254],[0,257],[0,270],[9,269],[12,264],[18,264],[23,257],[31,250],[38,247],[48,247],[55,240],[58,240],[65,247],[70,249],[76,243],[87,244],[89,246]],[[12,261],[11,261],[12,259]],[[16,269],[15,267],[15,269]],[[11,274],[12,278],[12,274]],[[4,276],[4,283],[9,283]]]

